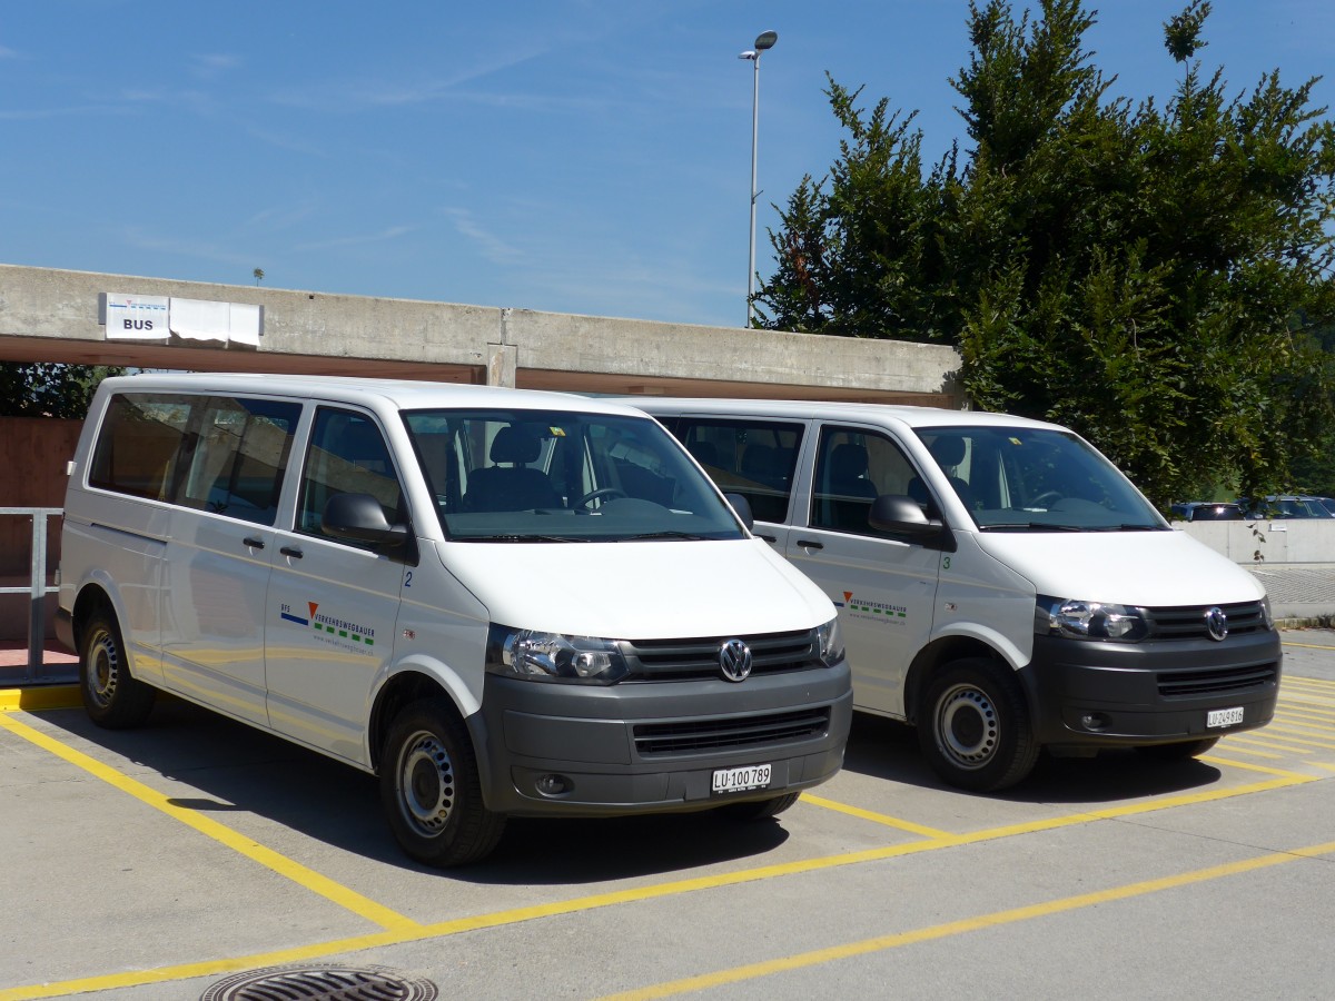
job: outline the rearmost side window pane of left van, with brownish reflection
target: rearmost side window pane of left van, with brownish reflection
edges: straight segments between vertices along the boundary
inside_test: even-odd
[[[171,500],[178,459],[190,427],[191,399],[117,394],[107,404],[88,484],[99,490]]]

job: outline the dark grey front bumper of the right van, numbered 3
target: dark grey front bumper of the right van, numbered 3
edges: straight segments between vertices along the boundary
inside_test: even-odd
[[[1035,731],[1055,746],[1171,743],[1264,726],[1282,673],[1279,634],[1100,643],[1036,637],[1020,671]],[[1212,710],[1242,722],[1210,726]]]

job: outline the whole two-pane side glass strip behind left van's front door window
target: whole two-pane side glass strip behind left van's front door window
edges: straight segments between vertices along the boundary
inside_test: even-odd
[[[89,486],[272,525],[299,403],[121,394],[107,407]]]

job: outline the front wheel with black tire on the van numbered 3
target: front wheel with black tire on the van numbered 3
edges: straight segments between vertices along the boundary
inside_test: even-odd
[[[936,774],[976,793],[1013,786],[1039,759],[1024,691],[1009,669],[981,657],[955,661],[932,679],[917,730]]]

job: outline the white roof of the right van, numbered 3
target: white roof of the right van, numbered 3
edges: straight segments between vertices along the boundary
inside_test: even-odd
[[[792,419],[822,418],[833,420],[898,420],[909,427],[1049,427],[1065,431],[1060,424],[1015,416],[989,414],[981,410],[945,410],[943,407],[909,407],[892,403],[829,403],[801,399],[709,399],[670,396],[618,396],[633,407],[655,416],[669,414],[709,414],[712,416],[738,414],[746,416],[774,416]]]

